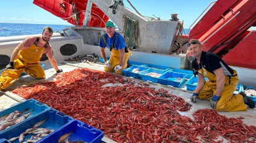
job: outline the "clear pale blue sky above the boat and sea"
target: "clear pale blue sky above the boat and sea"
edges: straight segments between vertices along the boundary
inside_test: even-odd
[[[52,0],[53,1],[53,0]],[[126,7],[133,10],[130,4],[123,0]],[[170,14],[178,13],[178,18],[184,20],[184,28],[189,28],[205,8],[213,2],[212,0],[130,0],[143,16],[160,17],[162,20],[170,19]],[[46,10],[33,4],[33,0],[1,1],[0,23],[37,23],[70,25]],[[135,11],[135,10],[133,10]]]

